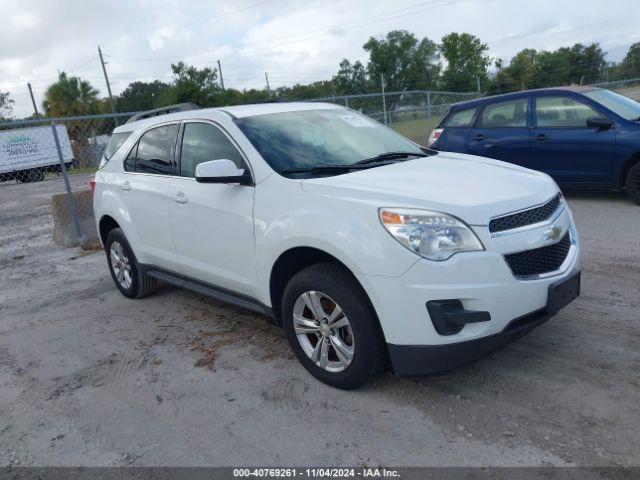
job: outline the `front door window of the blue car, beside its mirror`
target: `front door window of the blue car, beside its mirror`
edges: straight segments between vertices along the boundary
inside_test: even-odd
[[[539,127],[586,127],[587,118],[601,116],[589,105],[570,97],[538,97],[536,117]]]

